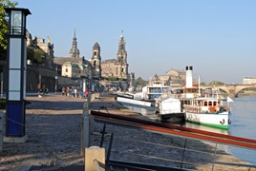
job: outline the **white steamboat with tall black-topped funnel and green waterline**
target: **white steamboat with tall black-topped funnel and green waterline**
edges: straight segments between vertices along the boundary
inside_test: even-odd
[[[231,115],[231,107],[229,102],[233,102],[231,98],[224,97],[220,94],[218,88],[211,91],[210,94],[204,94],[198,86],[198,90],[192,85],[192,66],[186,66],[186,90],[192,90],[190,95],[186,92],[181,100],[184,110],[185,121],[190,123],[198,123],[212,127],[228,129],[231,123],[229,117]],[[200,83],[200,80],[199,80]],[[194,90],[193,90],[194,89]]]

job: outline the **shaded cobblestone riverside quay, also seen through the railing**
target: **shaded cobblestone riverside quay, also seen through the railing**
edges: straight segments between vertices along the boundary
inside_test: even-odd
[[[4,143],[4,149],[0,152],[0,170],[29,170],[32,165],[41,168],[45,166],[48,169],[84,167],[84,159],[80,156],[84,99],[48,95],[46,98],[31,96],[27,100],[32,102],[27,105],[26,110],[26,132],[29,140],[25,143]],[[149,121],[139,113],[118,104],[113,95],[105,94],[101,98],[92,96],[89,109]],[[99,146],[104,124],[92,120],[90,127],[90,145]],[[221,150],[214,157],[214,146],[195,139],[108,123],[104,137],[102,146],[106,154],[109,154],[109,143],[113,138],[110,161],[130,161],[192,170],[256,170],[255,166]],[[179,160],[183,161],[182,164],[175,162]],[[114,170],[115,166],[112,166]]]

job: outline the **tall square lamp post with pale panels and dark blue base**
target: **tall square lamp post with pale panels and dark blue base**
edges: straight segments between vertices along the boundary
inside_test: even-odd
[[[9,14],[7,121],[5,142],[26,142],[25,99],[27,72],[26,17],[28,9],[7,8]]]

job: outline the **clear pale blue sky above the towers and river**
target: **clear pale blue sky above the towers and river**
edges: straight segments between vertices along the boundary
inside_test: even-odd
[[[76,29],[80,56],[98,42],[102,60],[117,58],[123,29],[129,72],[155,74],[194,66],[209,83],[256,77],[255,0],[18,0],[32,36],[51,37],[54,56],[69,56]]]

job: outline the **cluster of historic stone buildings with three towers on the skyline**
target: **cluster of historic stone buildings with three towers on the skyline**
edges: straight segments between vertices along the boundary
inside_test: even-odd
[[[72,48],[69,57],[55,57],[54,64],[60,68],[61,76],[69,78],[88,78],[98,80],[102,85],[115,85],[121,90],[128,90],[134,86],[135,74],[128,72],[127,51],[125,40],[121,32],[118,42],[117,59],[102,61],[100,46],[96,42],[93,47],[93,55],[88,61],[80,58],[77,40],[74,34]]]

